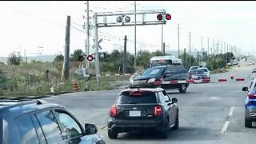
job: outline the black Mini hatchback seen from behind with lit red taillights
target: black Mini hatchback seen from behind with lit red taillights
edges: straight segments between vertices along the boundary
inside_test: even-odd
[[[160,132],[168,137],[170,129],[178,129],[177,98],[170,99],[162,88],[130,88],[122,90],[110,107],[107,122],[109,138],[118,133]]]

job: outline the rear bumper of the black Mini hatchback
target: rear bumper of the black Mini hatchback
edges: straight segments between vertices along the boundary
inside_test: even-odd
[[[162,132],[164,130],[163,121],[158,120],[115,120],[109,119],[108,130],[117,133],[122,132]]]

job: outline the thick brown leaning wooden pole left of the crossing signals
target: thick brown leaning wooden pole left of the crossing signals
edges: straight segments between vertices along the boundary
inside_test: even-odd
[[[66,38],[65,38],[65,55],[62,69],[62,80],[69,79],[70,77],[70,16],[67,16],[66,20]]]

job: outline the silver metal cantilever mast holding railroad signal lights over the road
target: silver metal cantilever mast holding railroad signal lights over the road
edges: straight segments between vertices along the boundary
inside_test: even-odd
[[[135,22],[136,15],[136,22]],[[170,14],[166,10],[137,10],[134,11],[117,11],[117,12],[99,12],[94,13],[95,28],[95,70],[96,81],[99,86],[99,54],[98,54],[98,27],[113,26],[146,26],[146,25],[163,25],[166,20],[170,20]],[[136,59],[136,58],[135,58]]]

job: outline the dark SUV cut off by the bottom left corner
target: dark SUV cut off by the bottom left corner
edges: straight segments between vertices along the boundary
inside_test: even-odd
[[[85,129],[69,110],[42,100],[0,100],[0,143],[97,143],[97,127],[86,123]]]

